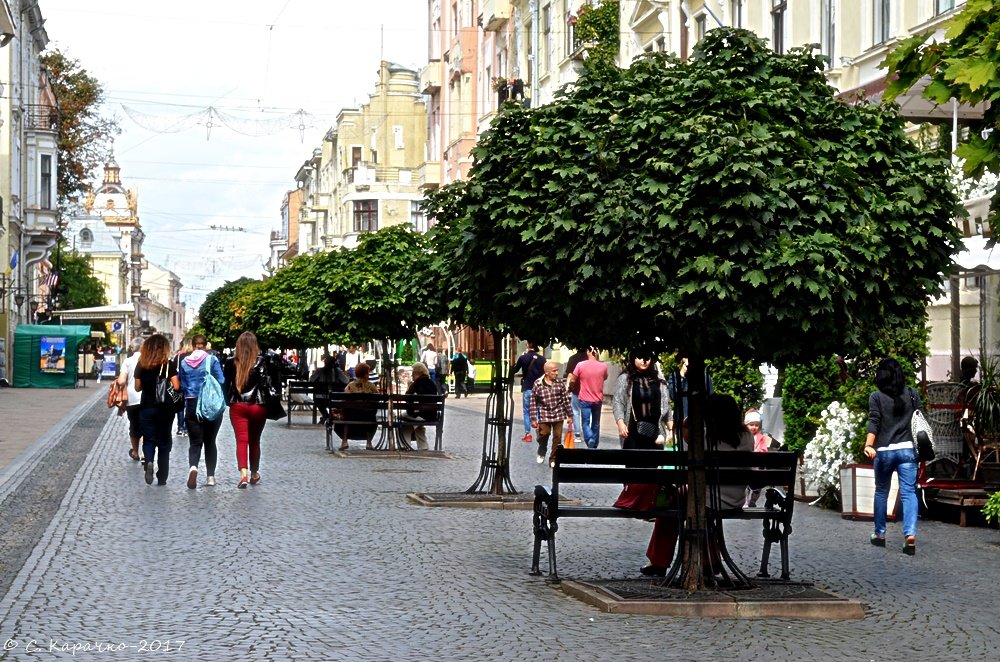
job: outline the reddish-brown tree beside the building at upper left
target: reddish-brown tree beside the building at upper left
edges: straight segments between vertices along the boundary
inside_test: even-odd
[[[59,102],[59,172],[56,188],[60,206],[88,188],[94,171],[111,154],[112,140],[121,133],[118,122],[101,114],[104,88],[100,81],[59,49],[42,53]]]

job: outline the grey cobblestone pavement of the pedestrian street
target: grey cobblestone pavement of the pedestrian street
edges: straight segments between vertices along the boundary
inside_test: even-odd
[[[236,489],[228,421],[217,486],[185,487],[187,440],[177,437],[170,481],[158,488],[127,459],[125,422],[105,410],[58,511],[0,600],[0,642],[9,641],[0,657],[71,656],[49,655],[52,642],[129,647],[81,650],[77,659],[131,659],[142,645],[160,659],[996,659],[1000,537],[992,529],[922,522],[911,558],[895,548],[898,525],[890,525],[893,547],[876,549],[870,524],[800,505],[793,578],[862,600],[862,621],[630,616],[569,598],[527,574],[529,512],[423,508],[405,498],[473,482],[483,404],[449,400],[450,460],[337,458],[323,450],[321,428],[268,423],[263,480],[247,490]],[[514,442],[512,467],[519,489],[547,482],[533,445]],[[26,467],[19,480],[36,470]],[[570,496],[606,502],[616,492]],[[758,558],[758,527],[727,529],[745,568]],[[567,522],[560,574],[635,577],[649,531],[641,522]]]

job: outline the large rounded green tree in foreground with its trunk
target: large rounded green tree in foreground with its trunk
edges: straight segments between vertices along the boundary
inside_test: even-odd
[[[431,205],[458,267],[449,299],[486,301],[525,337],[677,348],[695,383],[705,358],[850,355],[923,319],[958,241],[947,163],[898,113],[835,99],[823,70],[718,29],[686,62],[647,54],[504,106],[469,181]],[[690,414],[697,455],[697,397]],[[697,537],[683,557],[701,586]]]

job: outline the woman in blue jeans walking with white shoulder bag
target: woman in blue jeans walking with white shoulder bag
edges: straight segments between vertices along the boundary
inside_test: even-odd
[[[903,366],[896,359],[882,359],[875,368],[875,386],[868,396],[868,433],[865,457],[875,461],[875,532],[871,543],[885,547],[885,518],[892,474],[899,476],[903,504],[903,553],[917,552],[917,454],[913,448],[910,418],[923,409],[920,395],[906,386]]]

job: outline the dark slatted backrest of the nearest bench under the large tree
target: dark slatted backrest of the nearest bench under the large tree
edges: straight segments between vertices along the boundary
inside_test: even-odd
[[[687,451],[560,448],[552,492],[562,483],[681,485],[692,464]],[[777,486],[791,495],[798,455],[789,451],[706,451],[709,485]]]

